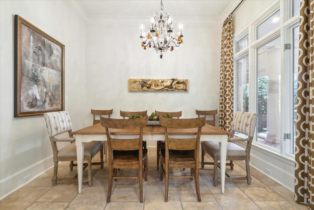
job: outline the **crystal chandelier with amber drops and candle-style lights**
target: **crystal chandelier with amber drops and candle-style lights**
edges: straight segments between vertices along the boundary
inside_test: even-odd
[[[140,38],[144,50],[147,47],[154,48],[157,53],[160,53],[160,59],[162,59],[162,53],[166,53],[168,50],[173,51],[175,47],[179,47],[183,43],[183,35],[181,24],[179,26],[180,32],[176,35],[169,12],[166,14],[162,12],[162,0],[160,5],[160,12],[159,14],[155,12],[152,18],[152,27],[147,33],[143,33],[144,26],[141,25]]]

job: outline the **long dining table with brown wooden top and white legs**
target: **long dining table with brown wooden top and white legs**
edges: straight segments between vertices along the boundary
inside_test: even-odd
[[[197,133],[197,128],[190,129],[178,129],[169,128],[169,134],[173,138],[189,138],[193,137]],[[84,143],[91,141],[107,141],[105,127],[101,123],[97,123],[82,129],[72,132],[76,138],[77,147],[77,163],[78,163],[78,193],[82,192],[82,181],[83,181],[83,154],[84,154]],[[110,134],[113,138],[126,138],[138,136],[136,129],[110,129]],[[136,137],[135,137],[136,138]],[[163,126],[148,125],[143,129],[143,141],[164,141],[165,131]],[[218,127],[205,124],[202,127],[201,141],[213,141],[219,142],[220,146],[220,173],[221,173],[221,193],[225,191],[225,172],[226,172],[226,154],[228,144],[228,132]],[[107,152],[105,151],[105,155]]]

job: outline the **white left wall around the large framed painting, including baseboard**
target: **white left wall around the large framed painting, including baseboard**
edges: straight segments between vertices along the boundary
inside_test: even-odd
[[[85,25],[65,1],[0,1],[0,198],[53,166],[43,116],[14,118],[14,15],[65,45],[65,109],[84,126]]]

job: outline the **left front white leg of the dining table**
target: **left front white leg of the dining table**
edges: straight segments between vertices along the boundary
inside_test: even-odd
[[[84,142],[82,142],[82,135],[76,135],[75,144],[77,146],[77,159],[78,159],[78,193],[82,193],[83,182],[83,155],[84,155]]]

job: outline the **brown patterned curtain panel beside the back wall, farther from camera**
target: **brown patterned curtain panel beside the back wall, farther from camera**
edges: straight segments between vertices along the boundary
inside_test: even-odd
[[[219,127],[231,130],[234,113],[234,49],[232,15],[224,22],[221,33]]]

